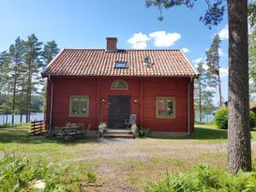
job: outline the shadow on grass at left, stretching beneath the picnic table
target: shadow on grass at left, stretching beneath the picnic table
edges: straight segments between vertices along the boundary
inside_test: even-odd
[[[77,139],[77,140],[53,140],[47,139],[44,136],[31,136],[29,128],[1,128],[0,129],[0,143],[60,143],[65,145],[75,145],[79,143],[99,142],[98,139]]]

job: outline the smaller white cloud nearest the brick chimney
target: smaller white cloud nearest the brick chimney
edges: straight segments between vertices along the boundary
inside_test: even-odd
[[[143,50],[146,49],[146,42],[150,40],[143,33],[134,34],[133,37],[128,39],[128,43],[131,44],[131,48],[135,50]]]

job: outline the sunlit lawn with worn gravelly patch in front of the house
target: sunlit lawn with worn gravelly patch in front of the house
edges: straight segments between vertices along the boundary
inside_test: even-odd
[[[256,132],[252,131],[255,149]],[[187,139],[112,139],[60,142],[29,135],[28,127],[0,128],[0,155],[26,155],[32,160],[69,163],[72,191],[143,191],[147,181],[158,180],[166,171],[193,169],[207,163],[216,169],[226,166],[227,131],[214,126],[196,126]],[[255,157],[255,151],[253,156]],[[97,175],[86,185],[85,172]],[[72,180],[73,175],[79,179]],[[79,189],[80,188],[80,189]]]

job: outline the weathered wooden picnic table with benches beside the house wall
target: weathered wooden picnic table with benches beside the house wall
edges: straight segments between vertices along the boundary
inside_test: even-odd
[[[54,130],[56,139],[61,140],[76,140],[78,137],[85,138],[90,125],[85,128],[84,124],[66,124],[65,126],[58,127]]]

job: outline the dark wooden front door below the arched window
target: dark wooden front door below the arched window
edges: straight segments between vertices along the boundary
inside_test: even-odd
[[[109,127],[126,128],[130,114],[130,96],[109,96]]]

